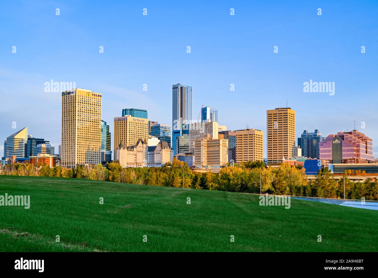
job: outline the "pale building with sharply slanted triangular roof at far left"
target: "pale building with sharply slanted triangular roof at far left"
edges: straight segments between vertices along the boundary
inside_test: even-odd
[[[4,156],[11,157],[15,155],[17,158],[26,157],[27,142],[28,127],[24,127],[6,138],[4,142]]]

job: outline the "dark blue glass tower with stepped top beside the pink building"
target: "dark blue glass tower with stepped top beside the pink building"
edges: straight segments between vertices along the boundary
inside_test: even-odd
[[[302,156],[308,158],[319,158],[319,142],[324,139],[319,129],[315,132],[303,130],[301,137],[298,138],[298,146],[302,149]]]

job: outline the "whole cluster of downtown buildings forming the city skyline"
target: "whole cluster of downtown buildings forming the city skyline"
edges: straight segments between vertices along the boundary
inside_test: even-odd
[[[205,106],[192,119],[192,87],[172,85],[172,126],[151,121],[147,110],[126,108],[116,116],[111,133],[101,119],[102,95],[85,89],[62,92],[62,132],[58,154],[43,138],[28,135],[28,127],[4,143],[2,164],[46,163],[74,168],[118,160],[122,167],[158,167],[176,157],[192,169],[218,172],[228,163],[264,160],[270,166],[289,163],[310,165],[316,174],[321,165],[374,163],[372,139],[358,130],[322,137],[318,129],[295,137],[295,111],[277,107],[266,111],[266,151],[258,129],[227,130],[218,124],[218,110]],[[313,161],[313,162],[311,162]],[[315,161],[316,167],[314,166]],[[311,168],[311,171],[309,170]],[[308,170],[308,171],[307,171]]]

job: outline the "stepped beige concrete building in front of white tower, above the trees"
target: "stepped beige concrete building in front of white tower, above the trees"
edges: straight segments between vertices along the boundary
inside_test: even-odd
[[[223,137],[223,135],[220,135]],[[211,138],[209,134],[193,140],[193,166],[219,172],[228,162],[228,140]]]

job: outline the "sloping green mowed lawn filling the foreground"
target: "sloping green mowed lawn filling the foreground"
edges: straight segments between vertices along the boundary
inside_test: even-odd
[[[377,251],[373,210],[294,199],[285,209],[249,194],[0,175],[5,193],[30,195],[31,205],[0,206],[0,251]]]

